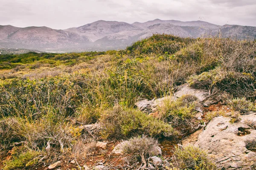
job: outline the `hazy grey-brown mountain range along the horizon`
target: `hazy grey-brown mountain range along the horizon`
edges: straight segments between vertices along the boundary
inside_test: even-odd
[[[224,25],[204,21],[152,20],[132,24],[99,20],[80,27],[56,30],[48,27],[0,26],[0,47],[40,51],[105,51],[122,49],[152,34],[180,37],[219,36],[255,39],[256,27]]]

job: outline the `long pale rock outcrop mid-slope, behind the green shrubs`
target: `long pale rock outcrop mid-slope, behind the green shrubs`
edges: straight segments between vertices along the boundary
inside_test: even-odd
[[[162,106],[164,104],[165,100],[174,100],[175,98],[179,98],[186,94],[192,94],[192,95],[196,96],[198,98],[198,102],[203,102],[204,105],[208,105],[209,103],[212,102],[209,100],[205,101],[207,99],[207,97],[209,96],[209,93],[207,90],[191,88],[191,87],[189,87],[189,84],[186,83],[186,84],[181,85],[177,89],[174,96],[166,96],[166,97],[152,99],[152,100],[144,99],[139,102],[136,102],[135,105],[141,111],[144,111],[147,113],[152,113],[152,112],[156,112],[157,106]],[[200,108],[198,108],[197,110],[199,112],[201,112]]]

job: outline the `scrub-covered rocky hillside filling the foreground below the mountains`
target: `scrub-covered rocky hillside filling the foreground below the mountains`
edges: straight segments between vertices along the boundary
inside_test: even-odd
[[[0,168],[253,170],[255,65],[255,41],[166,34],[0,55]]]

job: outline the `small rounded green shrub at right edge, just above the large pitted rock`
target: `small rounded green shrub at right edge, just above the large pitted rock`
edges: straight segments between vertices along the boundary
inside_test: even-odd
[[[239,111],[240,113],[247,113],[249,111],[255,110],[255,106],[253,102],[248,101],[245,97],[228,99],[227,105],[233,111]]]

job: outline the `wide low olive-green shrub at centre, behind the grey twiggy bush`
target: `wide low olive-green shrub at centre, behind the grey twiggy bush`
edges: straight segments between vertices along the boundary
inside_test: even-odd
[[[133,135],[165,136],[175,135],[172,126],[135,109],[116,105],[106,111],[100,120],[104,126],[103,136],[128,137]]]

